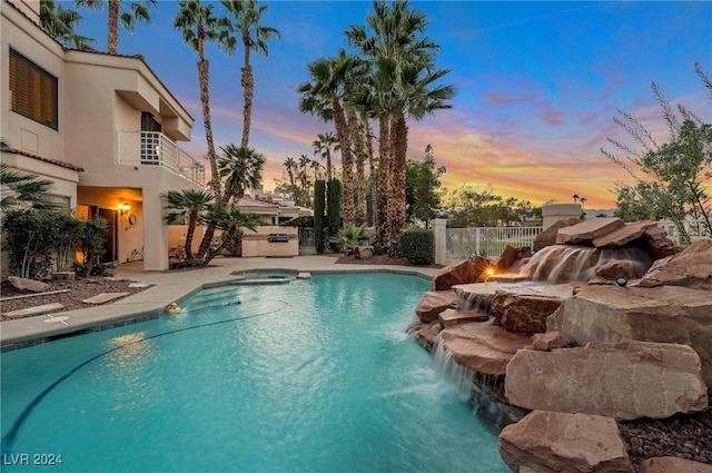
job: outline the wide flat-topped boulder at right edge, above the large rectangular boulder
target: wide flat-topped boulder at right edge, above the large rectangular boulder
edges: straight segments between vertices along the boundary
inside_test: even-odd
[[[622,339],[689,345],[702,361],[712,386],[712,297],[709,290],[583,286],[546,321],[548,331],[567,333],[581,346]]]

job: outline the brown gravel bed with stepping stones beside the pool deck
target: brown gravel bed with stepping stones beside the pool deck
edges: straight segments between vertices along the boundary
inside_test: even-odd
[[[69,290],[66,293],[42,295],[42,294],[32,293],[26,289],[18,289],[6,280],[0,286],[1,298],[4,299],[8,297],[23,296],[23,295],[32,295],[32,296],[13,298],[9,300],[0,300],[0,313],[3,314],[2,316],[0,316],[0,319],[7,321],[8,317],[6,317],[4,314],[12,311],[34,307],[38,305],[52,304],[52,303],[62,304],[65,307],[57,311],[49,312],[49,313],[44,313],[44,314],[55,314],[58,312],[75,311],[79,308],[92,307],[96,305],[103,305],[103,304],[86,304],[86,303],[82,303],[82,300],[89,297],[99,295],[101,293],[136,294],[138,292],[146,289],[145,287],[128,287],[130,283],[132,282],[129,279],[116,279],[116,278],[107,278],[107,277],[87,277],[87,278],[70,280],[70,282],[48,282],[48,284],[50,285],[50,288],[48,292],[63,290],[63,289],[69,289]],[[121,298],[122,297],[113,299],[111,302],[120,300]],[[108,302],[105,304],[111,304],[111,302]],[[12,318],[18,318],[18,317],[12,317]]]

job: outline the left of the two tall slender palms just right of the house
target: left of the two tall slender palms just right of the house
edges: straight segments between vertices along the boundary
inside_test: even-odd
[[[205,139],[208,145],[208,160],[210,161],[210,185],[217,198],[221,195],[218,174],[217,155],[212,141],[212,126],[210,124],[210,92],[208,88],[210,63],[205,58],[205,42],[226,39],[226,20],[212,14],[212,3],[201,3],[200,0],[182,0],[180,11],[174,19],[174,28],[180,30],[182,40],[198,53],[198,79],[200,82],[200,105],[202,106],[202,122]]]

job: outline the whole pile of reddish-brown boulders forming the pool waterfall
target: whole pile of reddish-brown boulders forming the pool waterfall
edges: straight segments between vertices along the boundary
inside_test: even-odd
[[[532,411],[500,436],[513,471],[633,472],[617,420],[709,408],[712,240],[682,249],[654,223],[625,225],[616,218],[563,223],[544,237],[535,249],[553,242],[596,252],[637,248],[652,266],[640,277],[627,263],[605,260],[592,280],[558,285],[566,288],[551,297],[542,294],[551,285],[487,283],[487,265],[479,260],[473,274],[451,278],[447,289],[458,305],[481,300],[476,306],[491,318],[441,321],[443,346],[475,373],[502,374],[505,401]],[[514,254],[491,267],[506,272],[503,266],[523,256]],[[631,280],[616,284],[617,276]]]

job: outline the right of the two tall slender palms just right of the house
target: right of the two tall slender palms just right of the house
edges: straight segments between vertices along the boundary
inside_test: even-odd
[[[240,85],[245,91],[245,104],[243,109],[243,141],[241,146],[247,147],[249,141],[249,129],[253,115],[253,97],[255,96],[255,78],[253,67],[249,63],[250,51],[269,56],[267,41],[273,37],[279,40],[281,37],[277,29],[260,24],[263,13],[267,11],[267,6],[257,6],[257,0],[221,0],[222,6],[235,19],[235,29],[240,33],[244,47],[244,66],[240,69],[243,76]]]

